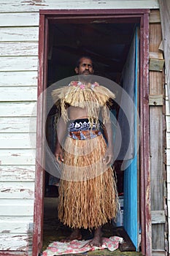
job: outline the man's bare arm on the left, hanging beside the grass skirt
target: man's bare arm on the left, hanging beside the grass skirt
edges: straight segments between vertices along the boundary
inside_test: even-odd
[[[57,124],[57,134],[55,143],[55,158],[59,164],[63,162],[63,149],[61,145],[63,142],[63,138],[66,136],[66,127],[66,122],[63,121],[62,117],[60,117]]]

